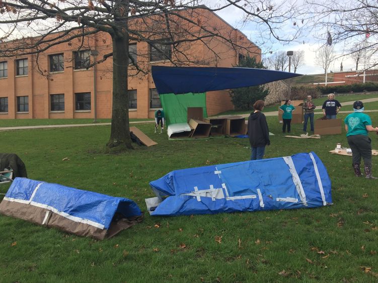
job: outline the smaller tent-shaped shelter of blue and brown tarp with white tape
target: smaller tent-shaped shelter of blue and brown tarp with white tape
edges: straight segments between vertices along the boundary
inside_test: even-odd
[[[136,203],[60,184],[15,178],[0,213],[99,240],[142,220]]]

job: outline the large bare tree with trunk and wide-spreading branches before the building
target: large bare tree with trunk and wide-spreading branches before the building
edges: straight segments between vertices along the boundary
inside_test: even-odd
[[[228,43],[235,50],[251,46],[240,43],[233,32],[224,34],[212,25],[211,15],[203,16],[197,11],[216,12],[230,6],[243,12],[244,22],[261,27],[267,38],[289,42],[300,35],[299,24],[292,23],[297,12],[295,6],[274,6],[270,0],[247,0],[243,5],[239,1],[226,1],[213,9],[199,6],[196,0],[177,3],[175,0],[0,0],[0,42],[3,42],[0,57],[33,56],[36,62],[33,67],[41,74],[44,70],[39,68],[39,54],[59,44],[70,44],[78,51],[91,50],[93,56],[88,68],[111,58],[108,65],[113,79],[113,108],[107,145],[132,148],[127,78],[130,74],[148,72],[149,60],[136,62],[129,52],[129,43],[147,43],[146,58],[148,50],[154,50],[172,65],[203,65],[210,60],[216,65],[219,60],[216,42]],[[286,23],[293,26],[294,32],[280,37],[280,29]],[[193,42],[203,44],[213,56],[202,58],[191,53]],[[111,52],[101,53],[105,50],[102,47],[109,44]],[[168,49],[172,52],[168,52],[170,56]],[[127,67],[130,62],[132,68]]]

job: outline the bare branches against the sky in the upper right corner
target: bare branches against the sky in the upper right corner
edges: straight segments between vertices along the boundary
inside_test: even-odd
[[[345,47],[344,54],[350,54],[356,63],[356,69],[365,50],[372,59],[369,67],[378,65],[378,41],[369,38],[375,38],[378,34],[376,1],[307,0],[307,3],[314,9],[315,29],[318,29],[323,37],[324,31],[329,31],[332,34],[332,44],[341,43]]]

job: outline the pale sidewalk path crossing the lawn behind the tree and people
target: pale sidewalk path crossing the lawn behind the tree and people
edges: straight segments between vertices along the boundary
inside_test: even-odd
[[[363,103],[378,101],[378,98],[369,98],[361,100]],[[342,106],[353,105],[354,101],[348,101],[341,103]],[[322,108],[322,105],[317,106],[317,108]],[[368,112],[378,112],[378,110],[366,110]],[[339,113],[353,113],[350,111],[340,111]],[[278,111],[265,112],[265,116],[277,116]],[[323,112],[315,112],[316,115],[323,115]],[[240,114],[238,116],[249,117],[249,114]],[[155,120],[146,120],[146,121],[135,121],[130,122],[130,124],[145,124],[145,123],[155,123]],[[12,131],[12,130],[26,130],[26,129],[49,129],[49,128],[68,128],[68,127],[86,127],[86,126],[104,126],[111,125],[111,123],[93,123],[93,124],[70,124],[70,125],[44,125],[44,126],[20,126],[20,127],[0,127],[0,131]]]

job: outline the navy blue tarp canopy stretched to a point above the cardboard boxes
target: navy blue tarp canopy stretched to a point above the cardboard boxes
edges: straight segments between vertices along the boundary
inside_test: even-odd
[[[254,68],[152,66],[159,94],[201,93],[264,84],[301,74]]]

